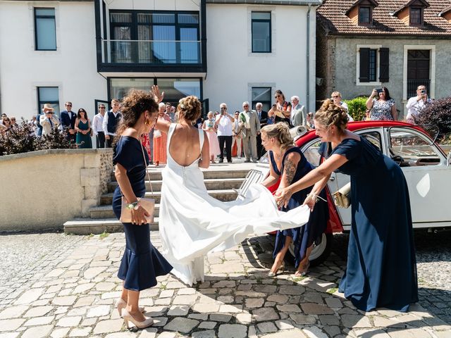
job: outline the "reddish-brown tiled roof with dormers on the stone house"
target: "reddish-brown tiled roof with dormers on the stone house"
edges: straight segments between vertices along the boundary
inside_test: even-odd
[[[377,0],[379,6],[373,9],[373,25],[359,26],[352,23],[345,15],[354,4],[353,0],[324,0],[316,11],[319,23],[328,30],[330,35],[407,35],[422,37],[450,37],[451,23],[438,16],[440,12],[450,7],[450,0],[428,0],[431,5],[424,8],[424,26],[412,27],[406,25],[395,15],[390,15],[408,0]]]

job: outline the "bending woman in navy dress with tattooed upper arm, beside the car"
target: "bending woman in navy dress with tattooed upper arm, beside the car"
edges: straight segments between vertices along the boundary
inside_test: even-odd
[[[307,161],[302,151],[294,145],[293,138],[286,123],[266,125],[261,129],[261,144],[269,154],[271,162],[269,175],[261,183],[265,187],[271,187],[280,179],[279,187],[288,187],[301,177],[309,173],[313,167]],[[288,211],[301,206],[308,194],[312,193],[311,187],[302,189],[292,194],[287,206],[282,211]],[[313,193],[326,200],[326,192],[321,189],[313,190]],[[291,242],[295,244],[295,276],[303,276],[309,268],[309,254],[313,244],[318,244],[321,235],[326,230],[328,220],[328,207],[325,201],[321,201],[310,214],[309,222],[301,227],[280,231],[276,235],[276,244],[273,251],[274,263],[269,277],[276,275],[283,265],[283,258],[288,251]]]

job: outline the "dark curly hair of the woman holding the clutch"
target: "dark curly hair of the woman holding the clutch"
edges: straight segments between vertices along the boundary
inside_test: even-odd
[[[158,104],[156,104],[154,96],[149,92],[130,89],[122,101],[122,118],[116,128],[116,142],[125,129],[136,125],[144,111],[149,111],[152,115],[158,111]]]

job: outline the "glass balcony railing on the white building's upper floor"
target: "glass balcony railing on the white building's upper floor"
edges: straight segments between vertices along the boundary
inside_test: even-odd
[[[198,65],[200,41],[103,40],[102,63]]]

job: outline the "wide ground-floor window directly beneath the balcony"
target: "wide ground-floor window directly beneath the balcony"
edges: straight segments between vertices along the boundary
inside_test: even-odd
[[[110,78],[110,98],[122,100],[130,89],[149,91],[149,88],[153,84],[157,84],[159,89],[164,92],[164,101],[171,102],[173,106],[177,106],[178,100],[188,95],[194,95],[202,99],[201,80],[198,78],[166,77],[147,77],[140,79],[129,77]]]

